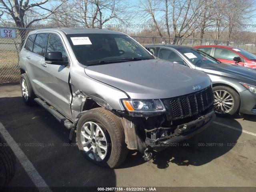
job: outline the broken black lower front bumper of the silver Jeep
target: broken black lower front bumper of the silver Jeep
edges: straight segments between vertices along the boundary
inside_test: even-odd
[[[198,119],[191,122],[178,125],[174,131],[174,136],[162,137],[157,139],[146,138],[146,144],[151,148],[159,148],[171,146],[171,143],[177,143],[182,140],[191,138],[195,134],[206,129],[211,122],[216,118],[214,110],[210,113],[200,116]]]

